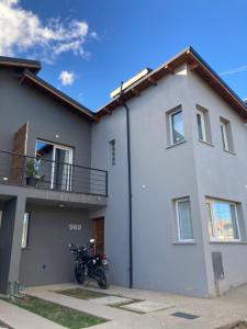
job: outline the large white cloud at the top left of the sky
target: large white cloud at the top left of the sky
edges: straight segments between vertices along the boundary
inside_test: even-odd
[[[0,0],[0,55],[29,53],[46,61],[66,52],[87,57],[85,43],[96,35],[85,21],[52,18],[44,24],[35,13],[22,9],[20,0]]]

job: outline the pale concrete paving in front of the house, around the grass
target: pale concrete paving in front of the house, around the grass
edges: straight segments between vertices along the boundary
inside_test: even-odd
[[[215,299],[192,298],[114,286],[108,291],[101,291],[102,293],[105,292],[106,294],[116,296],[164,303],[172,306],[167,309],[144,315],[113,308],[100,304],[99,300],[82,300],[56,293],[56,290],[70,287],[81,286],[66,284],[59,286],[33,287],[29,288],[27,293],[110,320],[103,325],[91,327],[93,329],[215,329],[247,317],[247,285],[236,288],[227,295]],[[88,288],[99,292],[99,290],[93,286]],[[199,316],[199,318],[193,320],[178,318],[172,316],[173,313],[192,314]],[[14,318],[18,318],[18,320],[15,319],[15,322]],[[61,326],[57,326],[25,310],[20,308],[16,309],[15,306],[7,305],[4,302],[0,302],[0,319],[14,327],[14,329],[63,328]]]

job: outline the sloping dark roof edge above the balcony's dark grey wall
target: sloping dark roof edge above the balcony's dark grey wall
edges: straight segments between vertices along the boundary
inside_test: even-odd
[[[21,82],[29,82],[36,88],[40,88],[43,92],[46,92],[55,100],[59,101],[60,103],[68,105],[69,109],[76,111],[77,113],[82,114],[89,121],[97,121],[96,115],[93,112],[75,101],[74,99],[66,95],[64,92],[59,91],[58,89],[54,88],[48,82],[44,81],[43,79],[38,78],[34,73],[25,70],[21,77]]]

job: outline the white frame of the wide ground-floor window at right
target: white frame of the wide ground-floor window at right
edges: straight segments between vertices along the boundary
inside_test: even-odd
[[[226,203],[228,205],[233,205],[234,206],[235,216],[236,216],[236,226],[237,226],[238,239],[221,240],[221,239],[217,239],[215,237],[215,222],[216,220],[214,218],[213,207],[212,207],[212,204],[214,202]],[[224,243],[224,242],[239,242],[242,240],[242,237],[240,237],[239,222],[238,222],[238,215],[237,215],[237,204],[235,202],[222,201],[222,200],[217,200],[217,198],[206,198],[205,203],[210,204],[210,214],[211,214],[211,220],[212,220],[213,237],[210,236],[209,227],[207,227],[207,234],[209,234],[209,237],[210,237],[210,241],[212,241],[212,242],[222,242],[222,243]],[[209,223],[207,223],[207,225],[209,225]]]

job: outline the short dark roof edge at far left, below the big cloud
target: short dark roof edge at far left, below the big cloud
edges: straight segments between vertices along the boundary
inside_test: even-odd
[[[5,56],[0,56],[0,67],[1,66],[29,69],[33,73],[37,73],[42,68],[41,63],[37,60],[5,57]]]

